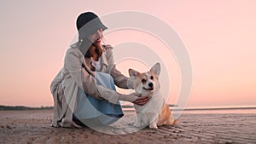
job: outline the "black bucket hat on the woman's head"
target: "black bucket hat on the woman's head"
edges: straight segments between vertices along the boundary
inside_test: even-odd
[[[85,12],[83,14],[80,14],[77,19],[79,39],[87,38],[101,28],[103,31],[108,29],[107,26],[104,26],[102,24],[100,18],[92,12]]]

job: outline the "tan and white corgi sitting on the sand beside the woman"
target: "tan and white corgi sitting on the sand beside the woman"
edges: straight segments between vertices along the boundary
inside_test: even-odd
[[[172,125],[175,120],[162,95],[160,95],[160,63],[156,63],[149,72],[137,72],[129,69],[129,75],[134,83],[134,89],[141,96],[149,95],[148,102],[143,106],[134,104],[137,120],[134,126],[149,125],[150,129],[158,129],[160,125]]]

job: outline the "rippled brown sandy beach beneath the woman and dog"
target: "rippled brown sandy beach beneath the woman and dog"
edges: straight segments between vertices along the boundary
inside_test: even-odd
[[[128,135],[53,128],[52,116],[52,110],[0,111],[0,143],[256,143],[256,113],[185,112],[178,124]]]

